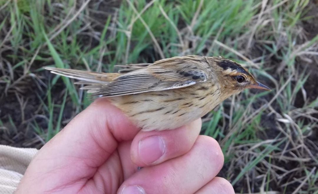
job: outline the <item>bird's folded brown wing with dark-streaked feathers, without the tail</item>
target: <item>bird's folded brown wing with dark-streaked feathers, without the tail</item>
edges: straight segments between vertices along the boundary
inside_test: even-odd
[[[205,59],[202,57],[202,59]],[[206,66],[198,56],[156,61],[145,68],[123,74],[93,92],[94,97],[110,97],[188,87],[208,79]],[[205,64],[207,65],[207,64]]]

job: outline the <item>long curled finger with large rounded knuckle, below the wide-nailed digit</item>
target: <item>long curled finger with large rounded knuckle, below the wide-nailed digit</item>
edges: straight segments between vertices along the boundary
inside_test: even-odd
[[[194,193],[218,174],[223,162],[218,142],[199,136],[189,152],[142,168],[124,181],[118,193]]]

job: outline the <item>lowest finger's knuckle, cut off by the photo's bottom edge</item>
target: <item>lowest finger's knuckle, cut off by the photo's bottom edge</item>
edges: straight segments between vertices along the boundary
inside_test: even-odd
[[[232,184],[225,178],[215,177],[195,194],[234,194]]]

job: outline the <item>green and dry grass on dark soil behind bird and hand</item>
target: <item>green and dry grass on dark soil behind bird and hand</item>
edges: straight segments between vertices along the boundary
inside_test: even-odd
[[[90,104],[45,66],[224,56],[273,91],[204,116],[238,193],[318,193],[317,0],[0,0],[0,144],[40,148]],[[206,149],[209,149],[208,147]]]

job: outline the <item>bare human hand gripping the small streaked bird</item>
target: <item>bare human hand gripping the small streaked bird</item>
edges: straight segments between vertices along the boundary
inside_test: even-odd
[[[215,177],[224,162],[218,142],[200,128],[196,120],[143,132],[95,100],[39,150],[16,193],[234,193]]]

